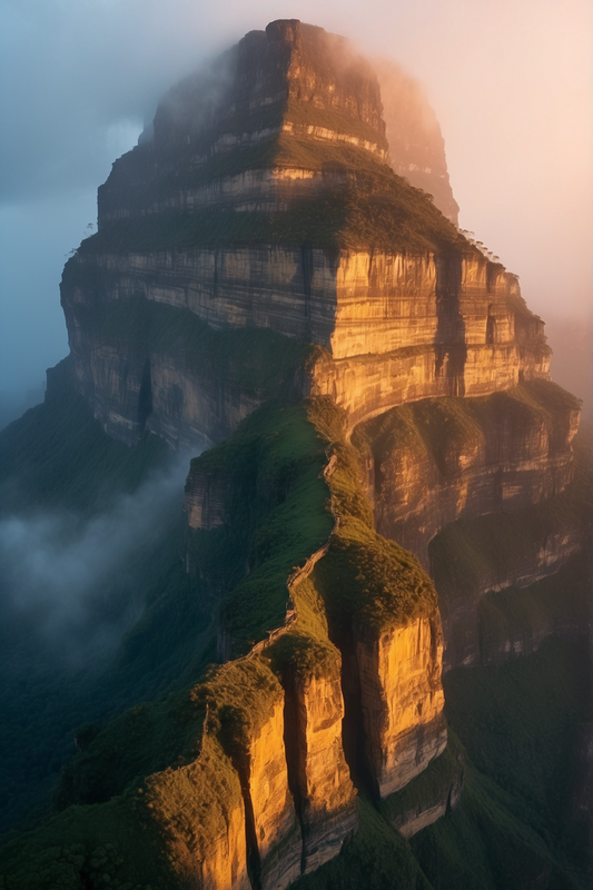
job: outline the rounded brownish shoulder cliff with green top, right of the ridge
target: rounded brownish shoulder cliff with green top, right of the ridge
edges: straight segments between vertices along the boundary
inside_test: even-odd
[[[569,393],[534,380],[486,398],[418,402],[362,425],[354,442],[377,528],[428,567],[428,544],[449,523],[560,494],[572,478],[579,409]]]

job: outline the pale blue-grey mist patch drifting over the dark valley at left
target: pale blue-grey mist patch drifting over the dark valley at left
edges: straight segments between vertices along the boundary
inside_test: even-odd
[[[88,520],[63,510],[0,520],[0,610],[9,646],[16,636],[30,646],[32,637],[72,666],[113,652],[140,617],[158,553],[170,548],[179,528],[188,465],[179,455]]]

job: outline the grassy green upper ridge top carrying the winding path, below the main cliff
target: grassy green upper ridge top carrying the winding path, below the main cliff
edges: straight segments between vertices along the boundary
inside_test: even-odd
[[[344,435],[345,418],[329,398],[281,409],[264,406],[230,439],[192,462],[206,474],[224,467],[233,479],[228,523],[192,532],[190,546],[220,590],[233,587],[233,572],[237,577],[249,567],[221,605],[236,654],[279,626],[287,570],[303,565],[330,532],[329,552],[312,578],[326,605],[335,602],[336,616],[349,621],[356,614],[379,626],[407,623],[436,605],[417,561],[375,533],[357,456]],[[332,455],[335,469],[325,481],[322,471]]]

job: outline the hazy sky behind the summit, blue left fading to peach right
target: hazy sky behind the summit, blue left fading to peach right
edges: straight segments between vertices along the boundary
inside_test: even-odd
[[[441,121],[461,225],[544,318],[591,313],[590,0],[1,0],[0,390],[38,385],[67,354],[65,255],[158,97],[277,18],[415,75]]]

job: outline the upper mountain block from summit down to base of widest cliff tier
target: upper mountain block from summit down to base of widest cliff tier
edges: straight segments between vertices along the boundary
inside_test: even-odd
[[[516,278],[384,164],[379,82],[346,41],[274,23],[208,78],[172,90],[154,132],[116,162],[99,231],[65,269],[76,386],[110,435],[204,447],[278,395],[330,395],[354,425],[547,375],[543,325]],[[389,108],[403,91],[407,139],[416,103],[398,82]],[[238,365],[259,366],[253,385],[191,354],[184,335],[200,322]],[[281,379],[265,360],[273,333],[291,344]],[[324,352],[306,359],[296,344]]]

